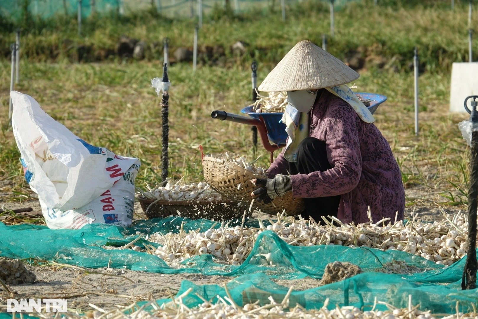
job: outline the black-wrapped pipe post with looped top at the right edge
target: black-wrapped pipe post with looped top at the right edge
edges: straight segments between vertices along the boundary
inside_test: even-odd
[[[467,106],[468,99],[471,101],[472,110]],[[468,251],[467,260],[463,268],[461,280],[461,289],[475,289],[477,281],[477,254],[476,254],[476,238],[477,238],[477,208],[478,208],[478,96],[468,96],[465,99],[465,109],[470,114],[471,122],[471,157],[470,157],[470,189],[468,191]]]

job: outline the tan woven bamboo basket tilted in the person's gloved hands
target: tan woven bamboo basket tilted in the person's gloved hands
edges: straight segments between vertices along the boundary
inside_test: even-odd
[[[250,202],[250,193],[257,188],[250,180],[268,179],[265,175],[254,174],[224,159],[209,156],[203,158],[203,170],[207,183],[218,193],[234,201]],[[285,209],[287,214],[297,215],[304,211],[304,201],[302,198],[293,198],[292,193],[287,193],[269,204],[254,201],[253,208],[271,214],[281,213]]]

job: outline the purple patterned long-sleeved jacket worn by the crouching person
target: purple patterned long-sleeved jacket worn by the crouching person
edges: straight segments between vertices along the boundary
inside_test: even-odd
[[[372,219],[403,219],[405,191],[390,145],[373,124],[360,120],[341,98],[325,91],[310,113],[309,136],[326,141],[330,170],[292,175],[294,197],[342,195],[338,218],[346,223]],[[282,150],[283,152],[283,150]],[[287,174],[288,162],[281,154],[267,170],[270,177]]]

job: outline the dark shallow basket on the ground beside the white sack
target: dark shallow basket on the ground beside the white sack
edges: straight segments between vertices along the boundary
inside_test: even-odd
[[[233,201],[154,201],[140,196],[141,208],[148,219],[179,215],[190,219],[207,218],[216,221],[242,218],[244,209]],[[247,212],[246,217],[250,213]]]

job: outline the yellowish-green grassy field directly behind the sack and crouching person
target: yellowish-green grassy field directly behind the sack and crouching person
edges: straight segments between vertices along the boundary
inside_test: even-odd
[[[269,70],[261,68],[259,79]],[[0,64],[1,105],[8,105],[8,64]],[[161,75],[158,63],[132,64],[22,64],[17,90],[33,96],[45,111],[80,138],[120,155],[141,159],[137,185],[153,186],[160,180],[161,110],[150,80]],[[239,112],[250,101],[250,71],[188,64],[170,69],[170,156],[175,179],[202,180],[199,145],[206,153],[233,151],[253,156],[250,127],[210,118],[214,109]],[[376,113],[376,125],[390,142],[407,188],[407,205],[465,204],[467,147],[456,123],[466,116],[448,115],[449,76],[423,74],[421,130],[413,134],[413,78],[411,74],[370,70],[356,82],[358,91],[389,96]],[[7,108],[1,109],[1,125]],[[2,202],[33,195],[22,177],[11,129],[0,138],[0,191],[10,194]],[[261,165],[268,153],[259,146]],[[277,152],[276,152],[277,155]],[[436,205],[435,205],[436,204]]]

